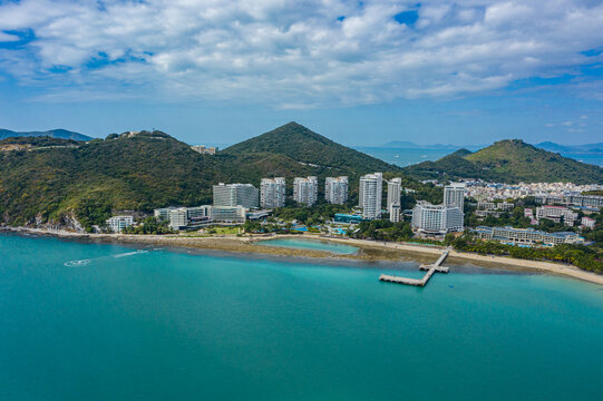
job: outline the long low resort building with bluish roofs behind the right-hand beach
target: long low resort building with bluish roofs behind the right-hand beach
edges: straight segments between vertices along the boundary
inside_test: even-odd
[[[545,233],[534,228],[484,227],[474,233],[482,239],[498,241],[503,244],[518,246],[555,246],[557,244],[581,244],[584,239],[576,233]]]

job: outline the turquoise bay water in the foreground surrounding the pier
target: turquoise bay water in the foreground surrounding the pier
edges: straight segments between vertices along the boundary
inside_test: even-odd
[[[0,235],[0,400],[601,399],[601,286],[135,251]]]

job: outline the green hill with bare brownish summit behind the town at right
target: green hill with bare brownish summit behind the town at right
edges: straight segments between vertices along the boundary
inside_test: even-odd
[[[455,151],[403,168],[419,179],[482,178],[505,183],[603,183],[603,168],[538,149],[519,139],[500,140],[475,153]]]

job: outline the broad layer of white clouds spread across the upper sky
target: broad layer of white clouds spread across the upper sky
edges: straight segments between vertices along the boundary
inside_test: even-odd
[[[426,1],[414,27],[396,22],[415,3],[22,0],[0,6],[0,41],[28,29],[35,39],[3,49],[0,71],[45,100],[305,108],[492,91],[603,60],[581,53],[603,42],[596,2]]]

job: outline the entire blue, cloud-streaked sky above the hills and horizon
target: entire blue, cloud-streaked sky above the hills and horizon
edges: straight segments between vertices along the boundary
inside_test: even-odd
[[[603,141],[603,1],[0,0],[0,128]]]

